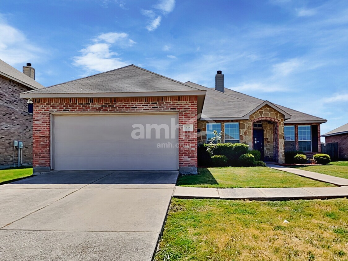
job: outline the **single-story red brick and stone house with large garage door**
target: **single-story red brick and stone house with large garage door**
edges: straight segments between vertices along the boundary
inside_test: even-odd
[[[135,65],[21,94],[33,101],[34,171],[197,172],[197,143],[222,130],[282,163],[284,150],[320,151],[310,116],[224,88],[179,82]]]

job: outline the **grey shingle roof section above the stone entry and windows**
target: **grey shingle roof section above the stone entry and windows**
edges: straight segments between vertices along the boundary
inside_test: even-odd
[[[194,82],[188,81],[186,84],[207,90],[202,113],[212,120],[248,118],[247,114],[254,112],[257,110],[257,108],[259,108],[260,105],[262,107],[262,104],[267,102],[265,104],[268,104],[285,115],[285,118],[287,118],[285,120],[286,123],[322,123],[327,121],[323,118],[286,108],[284,106],[239,93],[228,88],[225,88],[225,92],[222,93],[214,88],[207,88],[205,86],[195,84]]]

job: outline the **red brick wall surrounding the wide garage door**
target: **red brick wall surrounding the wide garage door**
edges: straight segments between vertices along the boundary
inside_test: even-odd
[[[197,167],[196,132],[183,132],[183,124],[197,129],[197,96],[36,98],[33,122],[33,166],[50,166],[51,113],[165,112],[179,114],[179,167]]]

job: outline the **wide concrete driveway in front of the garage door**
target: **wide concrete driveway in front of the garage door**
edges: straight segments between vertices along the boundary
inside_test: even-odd
[[[0,186],[0,260],[151,260],[178,173],[50,172]]]

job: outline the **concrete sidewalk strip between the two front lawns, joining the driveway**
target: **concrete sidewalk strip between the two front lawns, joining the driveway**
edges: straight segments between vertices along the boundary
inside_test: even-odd
[[[348,186],[336,188],[244,188],[214,189],[175,187],[176,198],[216,198],[249,200],[329,199],[348,197]]]

